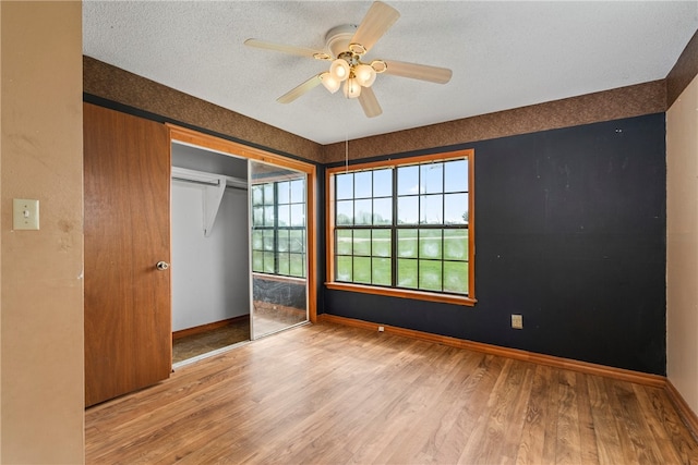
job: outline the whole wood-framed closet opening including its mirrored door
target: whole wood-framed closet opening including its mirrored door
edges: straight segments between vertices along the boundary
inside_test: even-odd
[[[314,166],[170,137],[173,368],[314,320]]]

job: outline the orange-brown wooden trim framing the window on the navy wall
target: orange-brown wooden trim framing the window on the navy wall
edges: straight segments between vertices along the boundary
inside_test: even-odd
[[[419,290],[406,290],[396,287],[384,287],[377,285],[365,285],[356,283],[336,282],[335,279],[335,174],[341,174],[344,171],[357,172],[361,170],[374,170],[380,168],[396,168],[410,164],[419,164],[429,161],[448,161],[459,158],[468,158],[468,209],[472,218],[468,220],[468,295],[456,295],[447,293],[437,293]],[[456,305],[474,306],[478,302],[476,298],[476,215],[474,215],[474,149],[464,149],[456,151],[446,151],[418,157],[409,157],[402,159],[388,159],[384,161],[371,161],[365,163],[356,163],[349,167],[340,166],[328,168],[325,170],[325,237],[326,250],[325,266],[328,280],[325,282],[327,289],[360,292],[365,294],[387,295],[394,297],[412,298],[419,301],[442,302]],[[394,199],[395,201],[395,199]],[[416,225],[419,228],[419,225]]]

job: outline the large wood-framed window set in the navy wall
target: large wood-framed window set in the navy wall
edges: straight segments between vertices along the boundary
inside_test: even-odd
[[[330,289],[474,303],[473,151],[327,170]]]

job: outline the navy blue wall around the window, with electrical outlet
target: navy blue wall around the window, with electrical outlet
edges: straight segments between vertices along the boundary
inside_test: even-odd
[[[324,289],[320,311],[665,375],[664,113],[453,148],[476,150],[477,305]]]

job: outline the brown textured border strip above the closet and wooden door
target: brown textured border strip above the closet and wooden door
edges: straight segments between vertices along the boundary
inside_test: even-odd
[[[306,160],[323,161],[321,146],[312,140],[85,56],[83,91]]]

